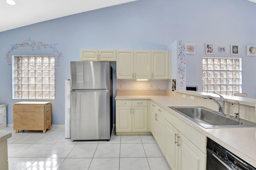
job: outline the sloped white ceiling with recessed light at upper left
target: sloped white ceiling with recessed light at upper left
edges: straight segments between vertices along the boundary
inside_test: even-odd
[[[0,32],[136,0],[0,0]]]

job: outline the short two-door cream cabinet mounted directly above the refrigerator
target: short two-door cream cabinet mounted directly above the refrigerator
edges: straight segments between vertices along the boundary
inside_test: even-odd
[[[81,49],[83,61],[116,61],[116,50]]]

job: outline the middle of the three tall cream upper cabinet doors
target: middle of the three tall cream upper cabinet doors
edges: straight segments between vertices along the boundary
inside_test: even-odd
[[[151,79],[151,51],[134,51],[134,78]]]

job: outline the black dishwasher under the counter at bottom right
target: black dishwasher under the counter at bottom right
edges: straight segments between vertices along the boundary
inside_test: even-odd
[[[212,139],[207,140],[206,170],[256,170]]]

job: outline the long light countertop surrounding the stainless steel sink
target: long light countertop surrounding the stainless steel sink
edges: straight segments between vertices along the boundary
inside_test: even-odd
[[[252,128],[211,128],[205,129],[186,117],[176,113],[168,106],[193,106],[190,103],[182,103],[171,96],[158,95],[117,95],[116,100],[148,99],[152,100],[170,114],[178,117],[205,136],[211,138],[236,156],[256,167],[256,127]],[[200,106],[200,105],[198,105]]]

